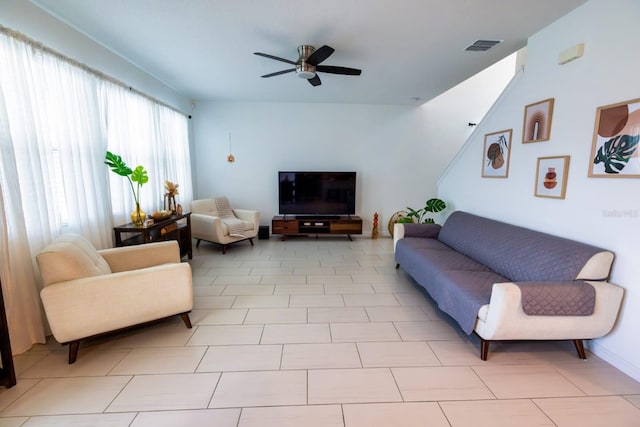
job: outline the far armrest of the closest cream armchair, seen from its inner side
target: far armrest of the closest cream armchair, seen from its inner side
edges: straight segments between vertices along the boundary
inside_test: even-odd
[[[180,246],[175,240],[103,249],[98,253],[114,273],[180,262]]]

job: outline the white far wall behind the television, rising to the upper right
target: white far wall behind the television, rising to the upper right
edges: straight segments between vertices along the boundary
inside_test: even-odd
[[[200,103],[193,113],[196,198],[227,195],[278,214],[278,170],[353,170],[356,214],[380,232],[406,206],[436,195],[436,180],[513,76],[515,56],[418,106]],[[318,90],[322,90],[319,87]],[[228,134],[235,163],[227,162]]]

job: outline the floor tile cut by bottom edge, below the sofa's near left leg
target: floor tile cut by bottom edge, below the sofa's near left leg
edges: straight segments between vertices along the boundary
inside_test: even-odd
[[[451,427],[553,427],[531,400],[440,402]]]

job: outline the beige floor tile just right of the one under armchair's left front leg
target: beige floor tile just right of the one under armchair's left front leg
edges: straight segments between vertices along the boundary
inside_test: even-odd
[[[109,375],[194,372],[205,350],[206,347],[135,348],[111,370]]]

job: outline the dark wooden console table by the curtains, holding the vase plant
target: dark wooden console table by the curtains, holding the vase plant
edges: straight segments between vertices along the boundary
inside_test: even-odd
[[[113,232],[116,237],[116,247],[177,240],[180,245],[180,257],[188,255],[189,259],[193,258],[191,212],[172,215],[142,227],[136,227],[132,223],[120,225],[113,227]]]

